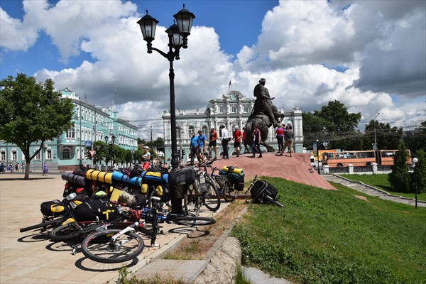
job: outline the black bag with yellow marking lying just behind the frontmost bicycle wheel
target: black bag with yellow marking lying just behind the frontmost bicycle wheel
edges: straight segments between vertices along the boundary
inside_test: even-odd
[[[107,200],[90,200],[83,202],[72,211],[77,222],[111,221],[116,218],[116,208]]]

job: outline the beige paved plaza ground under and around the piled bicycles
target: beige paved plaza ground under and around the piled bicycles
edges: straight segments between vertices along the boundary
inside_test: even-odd
[[[48,234],[39,230],[19,232],[22,227],[40,223],[42,202],[62,199],[65,182],[58,173],[32,173],[30,178],[23,180],[21,173],[0,175],[0,283],[107,283],[119,275],[122,266],[138,271],[177,246],[191,231],[186,226],[162,224],[164,234],[156,240],[160,247],[149,247],[150,240],[142,235],[146,248],[137,259],[127,263],[97,263],[81,251],[72,255],[71,246],[79,241],[52,242]],[[219,210],[224,207],[226,204]],[[212,212],[204,211],[201,215],[212,216]]]

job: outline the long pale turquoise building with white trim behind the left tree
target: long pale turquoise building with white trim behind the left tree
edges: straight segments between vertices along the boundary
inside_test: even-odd
[[[43,163],[48,165],[49,170],[75,170],[79,165],[90,164],[87,158],[86,146],[91,146],[94,141],[104,141],[105,136],[115,136],[115,144],[124,149],[138,147],[138,128],[128,121],[119,119],[116,111],[109,108],[97,108],[80,100],[80,97],[65,88],[62,97],[67,97],[74,104],[74,126],[68,131],[51,141],[46,141],[42,151],[33,158],[31,170],[39,171]],[[31,144],[30,152],[40,148],[40,143]],[[11,143],[0,141],[1,163],[25,163],[25,157],[20,148]],[[27,166],[27,165],[26,165]]]

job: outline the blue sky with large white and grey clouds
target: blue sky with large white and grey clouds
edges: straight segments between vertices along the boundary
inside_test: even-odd
[[[280,109],[320,110],[338,100],[373,119],[413,129],[426,120],[426,1],[1,0],[0,79],[52,78],[163,136],[169,62],[146,52],[136,23],[159,23],[153,47],[185,8],[195,14],[175,60],[176,109],[205,109],[231,89],[253,96],[261,77]]]

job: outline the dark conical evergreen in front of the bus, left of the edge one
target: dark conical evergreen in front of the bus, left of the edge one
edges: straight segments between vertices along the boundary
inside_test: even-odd
[[[410,192],[410,174],[407,166],[407,148],[405,144],[400,142],[398,152],[393,158],[392,173],[389,174],[389,182],[392,187],[400,192]]]

